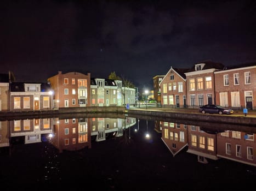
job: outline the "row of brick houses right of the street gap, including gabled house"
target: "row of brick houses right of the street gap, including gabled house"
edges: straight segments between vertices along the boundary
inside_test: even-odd
[[[163,106],[198,108],[217,104],[233,109],[256,107],[256,63],[235,66],[204,61],[192,68],[170,67],[153,77],[154,97]]]

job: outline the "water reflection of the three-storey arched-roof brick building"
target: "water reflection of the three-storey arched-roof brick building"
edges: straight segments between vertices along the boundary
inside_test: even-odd
[[[67,118],[54,120],[52,144],[60,152],[75,151],[84,147],[91,148],[90,120],[88,118]]]

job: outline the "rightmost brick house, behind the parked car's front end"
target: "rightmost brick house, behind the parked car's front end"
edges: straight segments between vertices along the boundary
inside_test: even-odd
[[[215,71],[215,92],[218,105],[234,109],[256,106],[256,65],[248,63]]]

